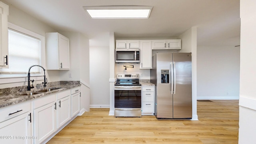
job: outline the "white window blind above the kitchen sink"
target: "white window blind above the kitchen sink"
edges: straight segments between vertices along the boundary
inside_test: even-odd
[[[4,73],[27,73],[30,66],[40,65],[41,41],[15,30],[8,30],[9,68]],[[30,72],[39,73],[40,67],[32,67]]]

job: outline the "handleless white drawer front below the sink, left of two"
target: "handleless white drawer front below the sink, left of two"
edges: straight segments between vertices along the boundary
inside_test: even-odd
[[[56,94],[50,94],[49,96],[43,96],[41,98],[36,98],[33,102],[33,108],[39,108],[51,102],[55,102]]]

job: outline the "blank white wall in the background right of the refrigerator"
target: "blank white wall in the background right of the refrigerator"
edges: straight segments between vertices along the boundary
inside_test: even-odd
[[[240,47],[198,46],[197,99],[239,99]]]

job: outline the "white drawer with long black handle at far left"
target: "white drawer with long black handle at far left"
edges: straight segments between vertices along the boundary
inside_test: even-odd
[[[14,104],[0,109],[0,122],[9,120],[30,111],[30,101]]]

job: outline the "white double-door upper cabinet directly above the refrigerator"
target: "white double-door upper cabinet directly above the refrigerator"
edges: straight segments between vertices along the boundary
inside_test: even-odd
[[[152,50],[181,50],[181,40],[152,40]]]

